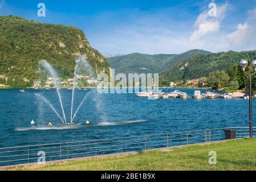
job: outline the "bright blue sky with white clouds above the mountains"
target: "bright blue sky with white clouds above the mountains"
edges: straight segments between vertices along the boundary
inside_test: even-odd
[[[40,2],[46,17],[37,16]],[[0,15],[9,14],[79,27],[92,47],[113,54],[256,49],[256,0],[0,0]]]

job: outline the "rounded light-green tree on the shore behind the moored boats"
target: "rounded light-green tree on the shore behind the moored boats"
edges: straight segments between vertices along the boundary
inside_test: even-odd
[[[209,74],[207,82],[210,87],[214,89],[220,89],[227,86],[230,77],[225,71],[215,71]]]

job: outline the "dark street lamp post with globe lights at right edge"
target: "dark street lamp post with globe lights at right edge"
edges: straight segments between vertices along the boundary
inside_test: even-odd
[[[251,93],[251,83],[252,83],[252,77],[256,73],[256,60],[253,60],[251,62],[251,66],[254,68],[253,73],[246,73],[245,69],[248,66],[248,61],[247,60],[241,60],[239,62],[240,67],[243,70],[243,73],[245,75],[249,76],[249,119],[250,119],[250,138],[253,138],[253,101],[252,101],[252,93]]]

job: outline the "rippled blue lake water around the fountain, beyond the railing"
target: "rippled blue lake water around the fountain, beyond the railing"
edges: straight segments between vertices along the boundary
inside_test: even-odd
[[[163,89],[171,90],[174,89]],[[193,89],[180,90],[190,96],[194,93]],[[88,89],[76,90],[74,110],[88,92],[74,120],[83,125],[56,127],[62,121],[35,96],[42,94],[62,115],[56,90],[27,89],[22,93],[18,89],[0,89],[0,147],[249,126],[248,100],[148,100],[136,94],[98,94]],[[62,89],[60,93],[70,121],[72,90]],[[254,110],[255,107],[254,103]],[[32,119],[35,127],[30,125]],[[84,125],[87,120],[90,126]],[[48,122],[54,126],[47,127]]]

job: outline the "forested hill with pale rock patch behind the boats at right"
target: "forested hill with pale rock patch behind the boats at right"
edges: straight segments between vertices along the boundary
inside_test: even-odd
[[[174,67],[160,73],[160,79],[180,81],[209,76],[217,70],[225,70],[241,59],[256,59],[256,51],[220,52],[210,55],[195,55],[178,62]]]

